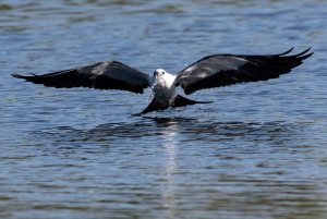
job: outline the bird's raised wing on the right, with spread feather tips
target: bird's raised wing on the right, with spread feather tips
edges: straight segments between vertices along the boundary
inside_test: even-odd
[[[266,81],[287,74],[313,54],[311,48],[293,56],[292,49],[272,56],[214,54],[205,57],[178,73],[175,83],[185,94],[243,82]]]

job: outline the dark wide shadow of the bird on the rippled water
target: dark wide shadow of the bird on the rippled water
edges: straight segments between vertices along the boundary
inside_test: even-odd
[[[48,139],[52,138],[55,142],[104,142],[106,139],[165,136],[169,133],[186,135],[190,142],[197,139],[213,143],[213,141],[223,142],[235,137],[254,142],[287,142],[291,137],[292,129],[295,129],[293,124],[286,124],[281,121],[266,123],[203,122],[197,119],[182,117],[144,117],[138,121],[105,123],[93,129],[58,126],[33,131],[32,134],[47,136]]]

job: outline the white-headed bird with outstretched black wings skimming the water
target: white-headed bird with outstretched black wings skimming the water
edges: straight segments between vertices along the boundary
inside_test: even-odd
[[[213,102],[189,99],[177,94],[177,87],[190,95],[201,89],[277,78],[290,73],[314,53],[310,51],[311,48],[290,54],[293,48],[277,54],[211,54],[175,74],[157,69],[148,75],[119,61],[104,61],[39,75],[13,73],[12,76],[57,88],[121,89],[136,94],[143,94],[144,89],[150,88],[152,100],[148,106],[135,113],[143,115],[168,108]]]

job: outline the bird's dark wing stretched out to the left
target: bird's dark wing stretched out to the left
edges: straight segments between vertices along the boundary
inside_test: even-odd
[[[96,89],[123,89],[142,94],[148,87],[148,75],[121,62],[98,62],[92,65],[43,75],[20,75],[35,84],[57,88],[89,87]]]

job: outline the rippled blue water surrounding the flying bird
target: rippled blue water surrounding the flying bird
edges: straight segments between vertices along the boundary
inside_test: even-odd
[[[326,21],[323,0],[1,0],[0,218],[327,218]],[[149,92],[10,76],[293,46],[315,54],[292,74],[148,117]]]

